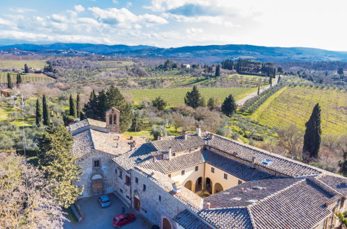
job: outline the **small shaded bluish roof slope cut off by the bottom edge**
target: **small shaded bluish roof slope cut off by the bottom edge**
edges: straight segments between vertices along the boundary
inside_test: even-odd
[[[195,214],[190,212],[189,210],[184,210],[177,214],[176,217],[173,218],[180,226],[183,228],[189,229],[209,229],[210,226],[207,226],[200,217],[197,217]]]

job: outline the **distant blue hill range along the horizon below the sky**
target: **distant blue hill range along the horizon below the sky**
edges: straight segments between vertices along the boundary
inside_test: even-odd
[[[172,58],[199,62],[220,62],[227,58],[250,58],[260,61],[347,61],[347,51],[328,51],[304,47],[268,47],[248,44],[182,46],[157,48],[154,46],[127,46],[123,44],[13,44],[0,46],[0,54],[13,55],[105,55],[140,58]]]

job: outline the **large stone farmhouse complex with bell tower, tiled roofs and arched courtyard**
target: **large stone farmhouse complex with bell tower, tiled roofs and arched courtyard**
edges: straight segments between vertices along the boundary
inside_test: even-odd
[[[113,192],[161,228],[332,228],[347,210],[342,176],[200,126],[154,142],[124,137],[119,115],[69,127],[80,198]]]

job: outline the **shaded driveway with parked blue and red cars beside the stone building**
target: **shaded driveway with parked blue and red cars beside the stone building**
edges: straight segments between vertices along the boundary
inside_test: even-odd
[[[81,206],[81,210],[84,214],[84,219],[81,222],[73,223],[73,222],[65,222],[64,228],[71,229],[71,228],[90,228],[90,229],[97,229],[97,228],[114,228],[112,225],[112,219],[118,214],[122,213],[122,207],[125,207],[126,213],[132,212],[136,215],[136,221],[133,223],[129,223],[126,226],[122,226],[122,228],[138,228],[138,229],[147,229],[151,228],[152,224],[145,219],[145,217],[141,216],[136,212],[134,209],[127,208],[122,201],[120,201],[119,198],[117,198],[114,194],[108,194],[108,196],[111,198],[111,206],[102,208],[100,207],[99,202],[97,201],[97,198],[99,196],[89,197],[89,198],[83,198],[78,201],[79,205]]]

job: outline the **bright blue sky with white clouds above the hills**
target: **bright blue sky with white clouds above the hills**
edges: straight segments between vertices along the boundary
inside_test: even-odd
[[[0,0],[0,38],[347,51],[346,0]]]

